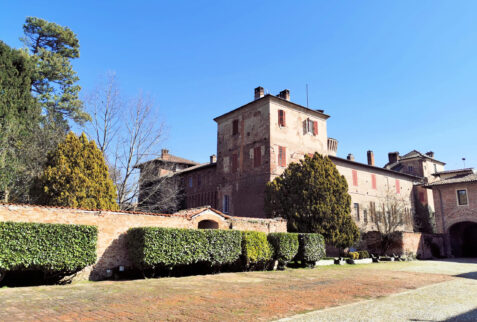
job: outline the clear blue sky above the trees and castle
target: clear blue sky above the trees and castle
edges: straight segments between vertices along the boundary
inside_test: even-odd
[[[257,86],[306,105],[308,84],[339,156],[432,150],[477,167],[477,1],[3,0],[0,39],[21,47],[27,16],[78,35],[83,89],[113,70],[151,94],[173,154],[207,161],[214,117]]]

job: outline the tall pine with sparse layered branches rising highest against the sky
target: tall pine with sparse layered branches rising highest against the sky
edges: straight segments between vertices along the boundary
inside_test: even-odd
[[[90,120],[78,97],[81,87],[71,60],[79,57],[79,41],[68,27],[28,17],[23,26],[24,44],[35,62],[32,91],[41,103],[50,127],[69,129],[68,119]]]

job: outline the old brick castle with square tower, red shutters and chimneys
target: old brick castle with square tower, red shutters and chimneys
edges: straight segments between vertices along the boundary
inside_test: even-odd
[[[356,162],[352,155],[337,157],[338,141],[327,135],[329,117],[323,110],[290,101],[288,90],[275,96],[257,87],[254,100],[214,119],[217,155],[211,156],[210,162],[197,164],[165,150],[161,158],[149,164],[158,168],[155,172],[180,180],[184,208],[210,205],[232,216],[263,218],[266,183],[282,174],[291,162],[318,152],[328,156],[346,178],[352,216],[361,229],[375,230],[376,209],[392,198],[399,200],[407,217],[398,229],[413,231],[415,186],[424,182],[433,164],[438,170],[444,164],[417,151],[426,159],[419,163],[420,168],[417,163],[411,165],[416,159],[413,153],[402,158],[398,153],[390,154],[384,168],[374,164],[372,151],[367,152],[367,163]],[[173,160],[178,161],[174,164]],[[144,175],[146,172],[141,171]]]

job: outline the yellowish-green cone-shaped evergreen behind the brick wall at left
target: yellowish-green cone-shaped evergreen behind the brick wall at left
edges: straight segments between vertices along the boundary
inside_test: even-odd
[[[117,210],[116,188],[103,154],[83,133],[68,133],[48,156],[36,185],[41,204],[85,209]]]

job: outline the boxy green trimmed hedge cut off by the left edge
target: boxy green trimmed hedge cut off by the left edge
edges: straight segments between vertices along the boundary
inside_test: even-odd
[[[96,226],[0,222],[0,270],[73,273],[96,262]]]

